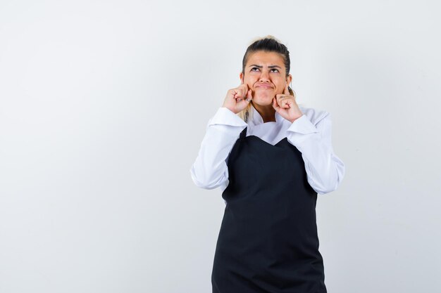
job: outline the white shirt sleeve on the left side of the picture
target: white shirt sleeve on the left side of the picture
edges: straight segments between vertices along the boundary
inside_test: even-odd
[[[247,123],[228,108],[218,109],[206,126],[199,153],[190,169],[195,185],[205,189],[226,188],[228,155],[246,126]]]

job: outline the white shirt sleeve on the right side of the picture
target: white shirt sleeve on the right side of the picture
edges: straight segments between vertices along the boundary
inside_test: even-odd
[[[294,120],[287,139],[302,152],[309,184],[323,195],[337,189],[344,177],[344,163],[333,152],[330,114],[320,114],[315,125],[306,115]]]

